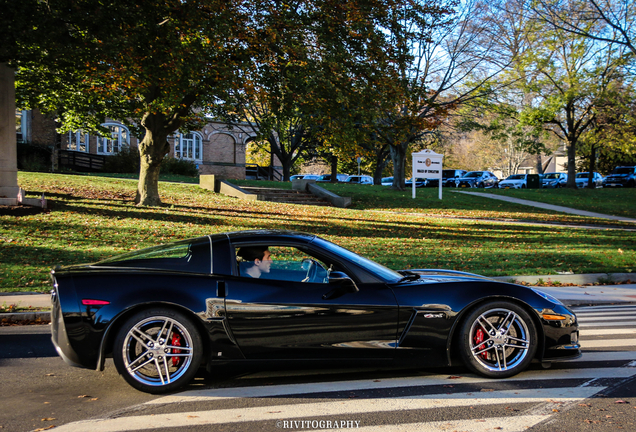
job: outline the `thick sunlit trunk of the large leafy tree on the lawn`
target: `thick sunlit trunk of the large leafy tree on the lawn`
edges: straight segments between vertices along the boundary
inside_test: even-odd
[[[139,206],[159,206],[159,171],[161,162],[170,150],[163,116],[149,114],[142,120],[146,135],[139,143],[140,171],[135,203]]]

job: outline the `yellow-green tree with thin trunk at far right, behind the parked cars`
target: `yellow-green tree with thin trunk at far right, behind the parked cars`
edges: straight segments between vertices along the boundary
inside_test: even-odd
[[[524,109],[522,121],[542,126],[566,143],[567,185],[576,188],[577,144],[593,126],[596,107],[621,74],[621,53],[549,23],[537,22],[533,34],[539,43],[523,61],[536,77],[528,86],[535,97]]]

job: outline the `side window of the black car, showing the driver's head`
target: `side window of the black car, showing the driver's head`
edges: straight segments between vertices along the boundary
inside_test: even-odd
[[[303,283],[328,283],[326,265],[290,246],[241,245],[236,250],[239,276]]]

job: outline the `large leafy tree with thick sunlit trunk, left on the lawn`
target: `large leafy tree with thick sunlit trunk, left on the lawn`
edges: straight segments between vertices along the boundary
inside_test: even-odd
[[[62,130],[100,131],[118,119],[143,137],[135,202],[159,205],[167,138],[197,125],[259,44],[243,1],[49,0],[37,2],[63,37],[30,29],[41,54],[14,58],[20,100],[56,111]],[[44,28],[48,28],[46,26]],[[37,50],[31,50],[37,51]]]

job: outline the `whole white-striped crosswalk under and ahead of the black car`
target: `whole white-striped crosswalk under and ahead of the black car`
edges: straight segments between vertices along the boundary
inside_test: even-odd
[[[346,418],[348,422],[357,422],[355,426],[351,423],[346,428],[355,427],[364,432],[485,432],[496,429],[521,432],[545,422],[557,411],[563,411],[602,392],[612,382],[636,375],[636,320],[626,319],[636,317],[636,307],[589,307],[578,308],[575,312],[581,324],[581,358],[564,362],[553,369],[530,369],[506,380],[492,380],[472,374],[416,374],[382,379],[190,390],[147,402],[130,415],[69,423],[55,430],[118,432],[151,431],[167,427],[177,430],[209,427],[205,430],[215,430],[221,425],[232,430],[232,425],[238,427],[251,422],[249,430],[259,429],[260,425],[267,430],[342,431],[345,426],[339,422]],[[618,328],[608,329],[608,323]],[[316,372],[319,373],[330,371]],[[279,376],[293,378],[289,373]],[[251,377],[263,378],[275,381],[276,373],[254,374]],[[249,383],[249,379],[249,375],[245,377],[246,383]],[[298,374],[298,379],[302,380],[302,373]],[[501,383],[505,387],[498,387]],[[546,383],[550,385],[546,386]],[[408,395],[400,395],[401,391],[406,391]],[[350,392],[374,395],[390,393],[394,396],[363,395],[355,399],[342,396]],[[258,401],[257,406],[250,401]],[[234,408],[239,402],[242,407]],[[394,418],[405,412],[439,412],[440,409],[461,407],[486,410],[498,405],[519,404],[530,405],[523,405],[524,409],[520,410],[519,415],[506,417],[493,415],[449,421],[420,421],[419,418],[406,416],[400,417],[406,420],[397,424],[364,424],[364,419],[375,413],[382,415],[382,418]],[[555,410],[555,406],[559,409]],[[175,409],[171,410],[170,407]],[[193,409],[188,409],[190,407]],[[167,412],[157,411],[164,409]]]

